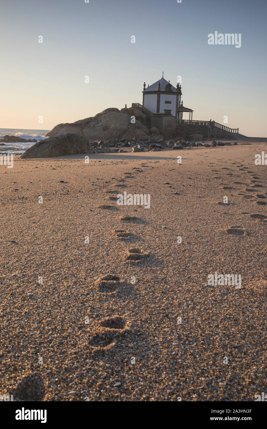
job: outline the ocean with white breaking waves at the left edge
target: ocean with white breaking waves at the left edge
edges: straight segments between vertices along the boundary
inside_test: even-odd
[[[22,139],[36,139],[37,142],[45,139],[45,134],[51,130],[24,130],[16,128],[0,128],[0,139],[3,136],[18,136]],[[34,143],[5,143],[5,146],[0,146],[0,152],[6,154],[23,154],[26,149]]]

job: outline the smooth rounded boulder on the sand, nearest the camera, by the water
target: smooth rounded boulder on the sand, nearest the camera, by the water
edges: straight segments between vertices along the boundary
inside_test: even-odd
[[[61,155],[92,154],[90,143],[78,133],[58,134],[31,146],[21,158],[49,158]]]

